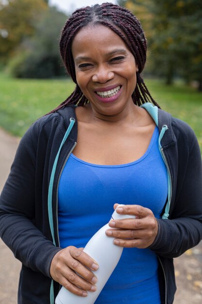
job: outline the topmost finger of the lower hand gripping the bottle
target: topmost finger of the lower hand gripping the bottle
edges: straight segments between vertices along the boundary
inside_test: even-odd
[[[81,264],[88,267],[91,270],[98,270],[99,266],[95,260],[93,260],[92,257],[90,257],[87,253],[84,251],[74,247],[70,246],[69,250],[70,255],[78,260]]]

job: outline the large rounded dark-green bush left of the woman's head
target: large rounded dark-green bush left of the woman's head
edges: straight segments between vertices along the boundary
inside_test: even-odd
[[[9,63],[13,76],[52,78],[65,74],[59,54],[59,36],[66,18],[55,8],[43,13],[33,36],[24,41]]]

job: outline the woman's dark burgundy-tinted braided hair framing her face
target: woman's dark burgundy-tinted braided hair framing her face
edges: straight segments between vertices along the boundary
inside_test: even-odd
[[[76,83],[76,88],[65,101],[50,113],[68,104],[77,104],[80,106],[88,102],[77,84],[71,46],[78,31],[90,24],[100,24],[109,27],[113,32],[121,37],[133,54],[135,62],[139,68],[139,71],[136,72],[137,84],[134,92],[132,93],[133,102],[136,105],[141,105],[145,102],[152,102],[159,107],[150,95],[140,76],[146,62],[147,44],[139,20],[126,8],[106,2],[101,5],[95,4],[91,7],[86,6],[79,8],[69,17],[69,19],[67,19],[64,28],[62,29],[60,52],[68,74]]]

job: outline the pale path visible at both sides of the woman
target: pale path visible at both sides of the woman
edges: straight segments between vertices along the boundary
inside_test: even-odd
[[[0,191],[9,174],[19,140],[0,129]],[[202,242],[174,260],[174,304],[202,304]],[[16,304],[20,262],[0,240],[0,304]]]

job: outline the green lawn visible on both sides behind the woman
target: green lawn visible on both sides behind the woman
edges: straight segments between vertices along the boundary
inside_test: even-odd
[[[193,128],[202,151],[202,93],[182,83],[167,86],[160,80],[145,82],[162,109]],[[69,79],[13,79],[1,73],[0,126],[22,136],[33,121],[64,101],[74,87]]]

